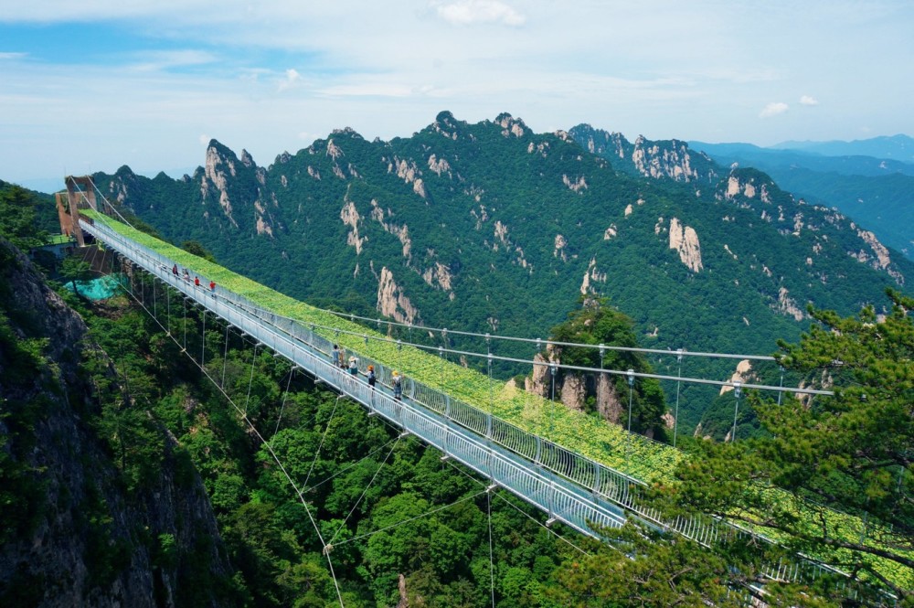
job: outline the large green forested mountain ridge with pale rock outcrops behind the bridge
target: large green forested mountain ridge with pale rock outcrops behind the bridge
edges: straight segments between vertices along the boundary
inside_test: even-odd
[[[409,138],[343,129],[268,166],[213,141],[193,176],[122,167],[95,179],[167,239],[197,240],[257,281],[415,325],[546,337],[595,293],[632,316],[643,346],[765,354],[799,336],[807,303],[850,314],[914,274],[758,170],[590,131],[581,145],[583,127],[533,133],[508,114],[469,124],[441,112]]]

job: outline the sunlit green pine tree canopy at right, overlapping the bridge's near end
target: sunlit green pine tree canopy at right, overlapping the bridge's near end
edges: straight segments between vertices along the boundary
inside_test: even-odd
[[[750,395],[770,434],[702,443],[675,492],[914,603],[914,299],[887,294],[887,315],[810,308],[818,324],[777,359],[834,396]]]

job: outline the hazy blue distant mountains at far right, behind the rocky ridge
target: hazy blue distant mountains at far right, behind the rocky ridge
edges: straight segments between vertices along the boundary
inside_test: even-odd
[[[888,247],[914,259],[914,159],[901,162],[894,157],[830,156],[750,144],[690,145],[720,165],[758,168],[808,202],[838,208],[872,229]]]

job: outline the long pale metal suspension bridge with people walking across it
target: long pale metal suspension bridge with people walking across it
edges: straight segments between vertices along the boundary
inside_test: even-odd
[[[83,183],[84,186],[89,184],[90,182]],[[702,514],[664,517],[645,499],[646,483],[641,479],[501,420],[492,411],[485,411],[417,379],[403,379],[402,398],[395,398],[391,390],[395,361],[380,360],[350,348],[348,352],[356,357],[358,373],[348,373],[344,368],[334,365],[332,360],[331,351],[335,341],[328,336],[333,336],[334,331],[339,332],[338,329],[280,315],[222,284],[210,288],[206,283],[197,284],[188,280],[189,277],[175,272],[179,263],[170,255],[174,248],[161,241],[158,241],[161,246],[153,246],[149,242],[151,238],[143,235],[140,239],[140,233],[132,227],[101,212],[91,189],[94,185],[83,190],[80,183],[73,179],[68,182],[68,187],[70,208],[80,208],[81,212],[74,214],[75,217],[66,226],[64,215],[61,214],[61,226],[65,226],[68,234],[75,234],[80,244],[85,240],[84,235],[90,235],[128,262],[132,272],[146,272],[154,277],[154,281],[196,304],[204,311],[204,331],[207,314],[238,328],[255,340],[258,347],[271,349],[276,356],[288,359],[293,366],[312,376],[315,381],[323,382],[340,395],[360,403],[367,409],[368,415],[380,416],[402,433],[412,434],[437,448],[443,454],[442,460],[452,459],[469,467],[488,480],[490,490],[504,488],[537,507],[547,514],[547,525],[558,521],[584,535],[600,538],[600,528],[617,528],[633,518],[644,525],[681,534],[706,546],[732,535],[750,533],[731,523]],[[111,213],[110,208],[108,205],[103,210]],[[199,274],[206,275],[205,272]],[[367,336],[365,343],[368,343]],[[672,354],[676,355],[675,352]],[[487,357],[491,365],[491,352]],[[682,357],[682,352],[679,357]],[[377,375],[378,384],[375,387],[369,386],[364,379],[368,366],[372,366]],[[631,386],[634,375],[632,370],[606,371],[627,374]],[[672,376],[637,375],[682,380]],[[740,387],[739,382],[732,381],[688,380],[729,385],[736,389],[737,395],[740,388],[753,386],[828,393],[762,385]],[[633,435],[630,441],[646,440],[641,435]],[[798,581],[815,578],[824,572],[836,571],[816,560],[798,558],[772,564],[765,574],[777,581]]]

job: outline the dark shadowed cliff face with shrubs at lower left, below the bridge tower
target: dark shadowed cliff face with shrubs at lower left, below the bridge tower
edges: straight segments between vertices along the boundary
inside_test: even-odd
[[[160,469],[128,490],[80,368],[86,325],[5,240],[0,259],[0,605],[231,603],[212,592],[231,568],[192,465],[160,431]]]

